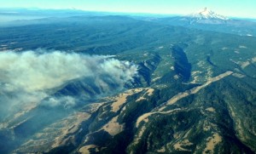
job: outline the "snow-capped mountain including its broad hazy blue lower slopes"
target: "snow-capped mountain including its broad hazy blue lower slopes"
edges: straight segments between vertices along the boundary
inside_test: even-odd
[[[215,13],[210,9],[201,9],[194,14],[154,19],[155,22],[169,26],[183,26],[204,31],[218,31],[240,36],[256,36],[255,22],[232,19]]]

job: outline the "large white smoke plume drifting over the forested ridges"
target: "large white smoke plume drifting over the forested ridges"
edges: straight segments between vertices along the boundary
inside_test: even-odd
[[[12,51],[0,53],[0,106],[4,102],[19,104],[39,101],[47,97],[47,91],[73,79],[90,77],[99,87],[125,83],[137,75],[137,66],[110,56],[65,53],[61,51]],[[107,79],[106,79],[107,77]],[[11,95],[11,97],[10,97]],[[73,104],[71,98],[64,98]],[[4,101],[4,102],[3,102]],[[49,103],[56,103],[52,99]]]

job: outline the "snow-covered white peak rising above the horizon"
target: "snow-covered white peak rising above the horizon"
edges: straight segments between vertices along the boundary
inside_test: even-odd
[[[230,20],[229,18],[225,17],[224,15],[216,14],[210,9],[201,9],[200,11],[189,14],[188,17],[195,18],[198,20]]]

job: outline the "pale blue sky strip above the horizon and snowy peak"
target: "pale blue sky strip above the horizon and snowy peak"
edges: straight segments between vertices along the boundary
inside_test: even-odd
[[[256,0],[0,0],[0,7],[157,14],[190,14],[207,7],[226,16],[256,18]]]

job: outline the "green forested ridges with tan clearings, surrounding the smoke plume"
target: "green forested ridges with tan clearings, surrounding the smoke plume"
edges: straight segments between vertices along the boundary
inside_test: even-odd
[[[18,104],[20,110],[0,123],[1,153],[255,153],[255,37],[166,25],[168,19],[72,19],[3,28],[0,45],[8,51],[24,48],[18,54],[33,48],[114,54],[136,65],[137,77],[107,96],[102,93],[116,88],[112,76],[102,75],[107,87],[79,77],[51,89],[49,99]],[[1,53],[8,54],[4,48]],[[73,63],[61,66],[67,70]],[[87,95],[92,99],[81,99]],[[61,96],[79,101],[45,106]],[[5,96],[0,98],[4,109]]]

